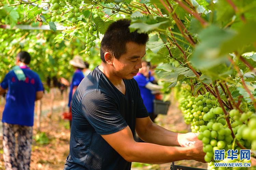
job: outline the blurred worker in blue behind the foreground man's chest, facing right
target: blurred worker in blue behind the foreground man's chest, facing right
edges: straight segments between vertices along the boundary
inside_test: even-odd
[[[160,90],[162,86],[153,84],[154,77],[150,75],[149,65],[147,61],[142,61],[142,68],[139,69],[139,72],[134,79],[137,81],[140,95],[142,96],[143,103],[147,108],[150,119],[154,122],[154,119],[157,115],[154,115],[154,95],[152,94],[153,90]]]

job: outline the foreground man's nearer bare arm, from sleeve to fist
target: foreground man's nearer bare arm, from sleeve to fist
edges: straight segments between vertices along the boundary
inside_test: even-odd
[[[116,133],[101,136],[128,162],[162,164],[184,159],[204,162],[204,153],[200,153],[202,143],[190,147],[168,147],[136,142],[129,126]]]

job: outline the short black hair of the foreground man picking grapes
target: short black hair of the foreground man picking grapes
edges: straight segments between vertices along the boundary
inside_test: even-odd
[[[115,58],[119,59],[126,53],[126,43],[134,42],[139,45],[146,45],[148,34],[130,32],[131,20],[120,19],[110,24],[100,44],[100,58],[105,61],[104,54],[109,52]]]

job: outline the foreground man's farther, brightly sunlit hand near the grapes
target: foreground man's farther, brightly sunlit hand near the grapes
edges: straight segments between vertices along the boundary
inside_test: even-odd
[[[178,143],[181,147],[189,147],[191,145],[194,145],[195,142],[200,140],[197,138],[197,135],[199,133],[179,133],[178,134]]]

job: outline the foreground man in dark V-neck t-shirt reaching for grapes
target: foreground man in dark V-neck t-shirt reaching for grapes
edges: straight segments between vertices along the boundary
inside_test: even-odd
[[[100,45],[102,63],[73,95],[65,170],[129,170],[131,162],[204,161],[196,134],[171,132],[150,120],[133,79],[142,67],[148,35],[130,32],[130,23],[121,19],[110,24]],[[134,141],[135,130],[147,143]],[[194,145],[171,147],[187,143]]]

